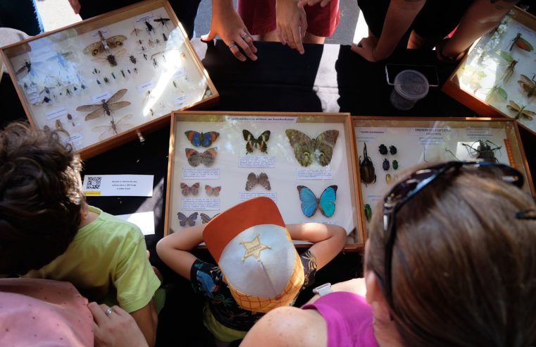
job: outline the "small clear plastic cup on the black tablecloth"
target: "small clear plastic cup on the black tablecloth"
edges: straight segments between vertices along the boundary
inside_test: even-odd
[[[415,70],[404,70],[394,78],[394,89],[389,100],[395,108],[405,111],[427,94],[428,80],[425,75]]]

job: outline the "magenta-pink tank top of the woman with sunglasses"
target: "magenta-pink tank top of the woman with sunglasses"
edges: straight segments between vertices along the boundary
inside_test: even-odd
[[[372,327],[372,308],[362,296],[336,291],[302,307],[311,308],[325,319],[328,347],[378,347]]]

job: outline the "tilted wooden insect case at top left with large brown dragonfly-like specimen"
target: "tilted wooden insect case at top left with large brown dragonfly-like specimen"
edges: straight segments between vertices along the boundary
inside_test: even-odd
[[[166,0],[149,0],[3,47],[35,128],[65,130],[92,157],[218,92]]]

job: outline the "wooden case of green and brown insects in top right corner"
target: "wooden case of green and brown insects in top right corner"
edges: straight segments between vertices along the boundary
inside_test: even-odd
[[[514,118],[536,135],[536,17],[513,8],[470,49],[442,90],[481,116]]]

